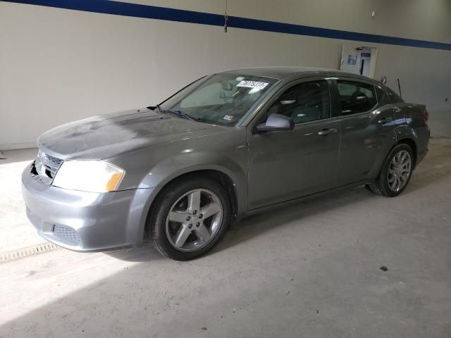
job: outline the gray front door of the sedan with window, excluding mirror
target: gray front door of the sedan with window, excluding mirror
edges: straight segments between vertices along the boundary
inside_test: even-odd
[[[272,113],[295,122],[288,131],[249,128],[249,210],[330,189],[340,149],[340,123],[330,120],[326,80],[293,82],[257,118]]]

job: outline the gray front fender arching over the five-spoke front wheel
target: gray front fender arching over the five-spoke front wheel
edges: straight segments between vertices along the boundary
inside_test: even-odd
[[[187,133],[182,139],[127,151],[111,163],[125,169],[122,190],[135,189],[130,205],[130,242],[140,244],[149,209],[171,180],[198,170],[218,170],[235,186],[237,213],[247,208],[247,139],[245,130],[226,128],[208,135]]]

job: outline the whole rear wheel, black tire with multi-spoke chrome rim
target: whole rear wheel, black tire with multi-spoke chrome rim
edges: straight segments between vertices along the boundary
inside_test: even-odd
[[[412,148],[398,144],[385,158],[381,173],[367,187],[375,194],[394,197],[401,194],[409,184],[414,168]]]

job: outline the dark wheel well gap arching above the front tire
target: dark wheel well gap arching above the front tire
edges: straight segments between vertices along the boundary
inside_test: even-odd
[[[232,208],[232,213],[231,213],[232,221],[236,220],[237,213],[238,213],[238,199],[237,199],[237,193],[236,193],[236,189],[235,189],[235,183],[228,175],[226,175],[225,173],[223,173],[219,170],[196,170],[196,171],[191,171],[190,173],[185,173],[180,176],[174,177],[171,181],[164,184],[164,186],[161,188],[159,193],[155,196],[154,201],[152,202],[152,205],[149,208],[149,213],[147,214],[147,218],[149,218],[149,215],[152,213],[152,206],[155,205],[154,202],[156,201],[156,199],[159,198],[161,193],[164,191],[164,188],[168,187],[169,184],[173,184],[174,182],[176,182],[178,180],[187,180],[192,176],[202,176],[202,177],[207,176],[207,177],[210,177],[211,179],[219,182],[223,186],[223,188],[226,189],[228,197],[230,198],[230,202],[231,202],[230,206]],[[145,227],[147,227],[147,221],[146,221]],[[145,229],[145,227],[144,227],[144,229]],[[145,232],[145,230],[144,230],[144,232]]]

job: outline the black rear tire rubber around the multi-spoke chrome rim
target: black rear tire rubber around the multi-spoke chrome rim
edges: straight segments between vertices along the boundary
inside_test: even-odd
[[[393,189],[390,189],[390,185],[388,182],[388,169],[390,168],[390,163],[392,163],[393,158],[400,153],[400,151],[407,151],[410,156],[411,165],[410,165],[410,172],[409,176],[407,177],[407,180],[405,184],[397,191],[394,191]],[[376,180],[371,182],[370,184],[367,184],[368,189],[371,190],[371,192],[375,194],[381,194],[383,196],[387,197],[395,197],[401,194],[404,189],[407,187],[407,185],[410,182],[410,178],[412,177],[412,172],[414,170],[414,156],[412,152],[412,148],[408,144],[397,144],[393,147],[393,149],[390,150],[387,157],[385,158],[385,161],[382,165],[381,172],[379,173]]]

